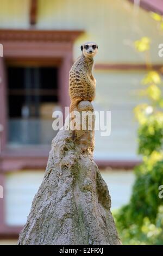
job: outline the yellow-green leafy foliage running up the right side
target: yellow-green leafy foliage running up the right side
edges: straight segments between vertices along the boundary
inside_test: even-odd
[[[163,26],[162,16],[155,13],[151,16]],[[134,46],[146,54],[150,42],[143,37]],[[136,180],[129,204],[114,213],[121,240],[126,245],[163,244],[163,198],[159,197],[159,187],[163,185],[163,97],[160,74],[150,63],[146,64],[150,70],[141,82],[141,95],[146,96],[148,103],[134,109],[139,122],[138,154],[143,161],[135,168]]]

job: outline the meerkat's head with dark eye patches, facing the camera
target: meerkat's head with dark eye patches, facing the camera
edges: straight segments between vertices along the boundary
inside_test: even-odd
[[[93,58],[98,51],[98,45],[96,42],[85,42],[81,47],[81,50],[85,57]]]

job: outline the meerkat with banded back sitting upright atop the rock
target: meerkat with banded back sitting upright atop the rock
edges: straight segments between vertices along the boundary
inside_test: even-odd
[[[70,113],[77,109],[80,101],[91,102],[95,99],[96,80],[92,75],[92,69],[98,45],[95,42],[86,42],[80,48],[82,55],[74,62],[69,76]],[[73,131],[73,139],[74,136]]]

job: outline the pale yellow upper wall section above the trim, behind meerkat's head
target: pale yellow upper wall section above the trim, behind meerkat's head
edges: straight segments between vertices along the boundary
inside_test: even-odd
[[[74,45],[74,59],[80,54],[84,41],[96,41],[100,63],[144,63],[142,53],[133,48],[133,41],[142,36],[152,39],[152,60],[162,63],[158,56],[158,45],[162,33],[150,14],[127,0],[39,0],[37,28],[82,29]],[[129,46],[130,45],[130,46]]]

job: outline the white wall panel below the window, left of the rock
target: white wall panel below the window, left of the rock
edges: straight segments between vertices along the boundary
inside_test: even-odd
[[[27,221],[32,200],[41,185],[43,170],[9,173],[5,179],[5,217],[8,225]]]

